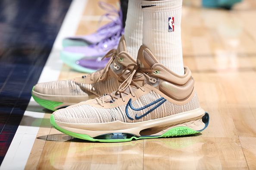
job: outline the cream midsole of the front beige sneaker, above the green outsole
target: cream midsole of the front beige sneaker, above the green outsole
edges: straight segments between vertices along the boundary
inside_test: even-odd
[[[163,128],[162,132],[154,134],[161,135],[161,133],[165,133],[165,130],[180,125],[190,127],[195,131],[200,131],[205,125],[202,121],[202,117],[204,114],[205,111],[202,108],[198,108],[188,112],[181,112],[163,118],[157,118],[149,121],[142,121],[136,123],[113,121],[107,123],[75,124],[64,123],[56,120],[55,122],[62,129],[77,134],[87,134],[90,137],[96,137],[102,134],[109,133],[128,133],[140,136],[140,131],[153,127]]]

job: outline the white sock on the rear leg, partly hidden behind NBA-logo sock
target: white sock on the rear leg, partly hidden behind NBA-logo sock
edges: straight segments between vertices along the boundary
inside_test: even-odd
[[[140,0],[129,0],[125,21],[125,42],[128,53],[136,60],[142,45],[143,16]]]

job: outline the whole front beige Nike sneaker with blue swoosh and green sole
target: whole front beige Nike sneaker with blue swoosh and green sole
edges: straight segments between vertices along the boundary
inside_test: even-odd
[[[118,91],[104,94],[51,115],[57,130],[72,137],[100,142],[197,134],[209,124],[199,106],[188,67],[179,76],[159,64],[141,46],[137,64]]]

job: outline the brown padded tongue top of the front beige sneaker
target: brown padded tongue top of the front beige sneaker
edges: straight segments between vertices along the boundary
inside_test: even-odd
[[[158,63],[158,61],[156,60],[152,52],[146,46],[140,46],[137,55],[138,66],[145,69],[150,69],[156,63]]]

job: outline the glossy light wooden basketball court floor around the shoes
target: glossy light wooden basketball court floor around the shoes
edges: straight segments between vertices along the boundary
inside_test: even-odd
[[[97,2],[83,3],[76,34],[97,29],[104,14]],[[244,0],[226,11],[203,9],[198,0],[184,0],[182,10],[184,64],[194,76],[201,107],[210,114],[205,131],[126,143],[88,142],[56,131],[50,125],[51,112],[31,100],[27,110],[34,115],[25,115],[20,126],[37,126],[36,138],[22,140],[30,145],[26,158],[19,149],[22,142],[18,143],[20,155],[9,157],[9,163],[20,158],[18,163],[27,170],[256,169],[256,1]],[[66,65],[59,71],[59,79],[84,75]],[[42,117],[33,119],[36,114]]]

